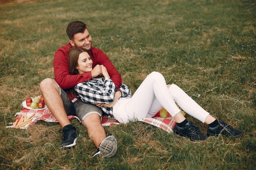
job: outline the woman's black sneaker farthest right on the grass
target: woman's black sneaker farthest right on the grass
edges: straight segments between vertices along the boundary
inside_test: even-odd
[[[239,137],[243,134],[242,130],[234,129],[232,126],[226,124],[224,121],[219,120],[219,125],[211,128],[208,126],[207,136],[224,135],[225,137]]]

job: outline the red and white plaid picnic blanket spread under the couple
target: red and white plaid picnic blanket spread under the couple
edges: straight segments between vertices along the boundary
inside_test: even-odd
[[[43,121],[47,121],[47,122],[58,122],[56,120],[56,118],[52,115],[52,113],[50,112],[50,110],[48,108],[44,109],[44,110],[28,110],[26,108],[23,108],[20,112],[16,113],[16,118],[14,118],[15,120],[18,119],[18,121],[20,120],[20,118],[22,117],[22,115],[24,115],[25,113],[27,113],[27,115],[32,115],[33,113],[35,113],[34,118],[29,122],[29,124],[21,127],[20,129],[27,129],[29,125],[31,124],[35,124],[38,120],[43,120]],[[71,119],[78,119],[78,117],[76,116],[68,116],[68,118]],[[80,121],[80,120],[79,120]],[[175,120],[173,119],[173,117],[171,117],[170,114],[168,114],[168,117],[166,118],[162,118],[159,116],[159,112],[155,115],[155,117],[153,118],[144,118],[138,121],[142,121],[148,124],[151,124],[153,126],[156,126],[158,128],[161,128],[163,130],[165,130],[166,132],[170,133],[173,132],[173,128],[175,126]],[[80,121],[81,122],[81,121]],[[13,123],[10,123],[13,124]],[[103,115],[102,116],[102,120],[101,120],[101,124],[102,126],[113,126],[113,125],[117,125],[120,124],[119,121],[117,121],[116,119],[112,118],[112,117],[108,117],[107,115]],[[7,126],[7,128],[14,128],[14,126]]]

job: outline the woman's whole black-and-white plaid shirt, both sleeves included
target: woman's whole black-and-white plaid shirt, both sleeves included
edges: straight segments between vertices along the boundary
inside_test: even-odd
[[[79,83],[74,87],[81,100],[85,103],[112,103],[115,99],[116,86],[109,78],[90,79],[87,82]],[[128,86],[121,84],[117,90],[122,93],[121,97],[131,97],[131,91]],[[100,106],[104,113],[113,117],[113,108]]]

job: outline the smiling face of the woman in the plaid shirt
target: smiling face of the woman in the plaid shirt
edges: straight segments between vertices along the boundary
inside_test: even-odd
[[[92,60],[87,52],[83,52],[79,55],[76,69],[79,74],[92,71]]]

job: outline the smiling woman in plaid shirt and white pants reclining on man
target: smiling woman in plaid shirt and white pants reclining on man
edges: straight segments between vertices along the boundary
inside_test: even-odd
[[[92,71],[90,55],[81,48],[72,48],[69,51],[70,74],[82,74]],[[150,73],[141,83],[133,96],[128,86],[122,84],[117,90],[110,79],[108,71],[101,65],[104,78],[92,78],[74,87],[83,102],[94,103],[103,109],[103,112],[117,119],[120,123],[128,123],[136,119],[154,117],[164,107],[176,121],[175,133],[188,137],[192,141],[207,139],[207,136],[225,135],[238,137],[242,130],[236,130],[224,121],[218,121],[207,111],[201,108],[181,88],[175,84],[166,85],[161,73]],[[114,97],[115,96],[115,97]],[[208,124],[207,136],[188,121],[180,112],[176,103],[189,115]]]

